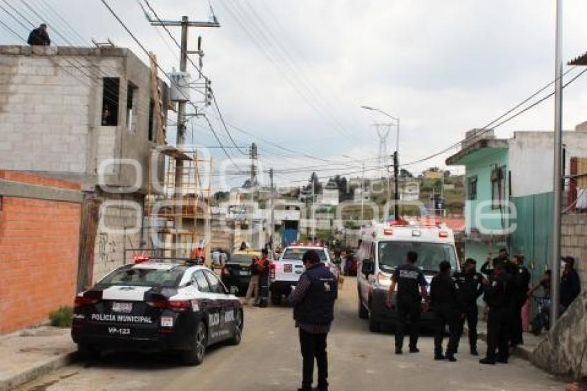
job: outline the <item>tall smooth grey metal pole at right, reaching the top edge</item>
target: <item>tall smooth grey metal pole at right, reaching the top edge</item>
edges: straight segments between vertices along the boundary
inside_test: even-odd
[[[554,332],[559,318],[559,287],[561,274],[561,193],[562,193],[562,127],[563,127],[563,1],[557,0],[557,21],[555,38],[555,162],[552,186],[552,284],[550,298],[550,331]]]

